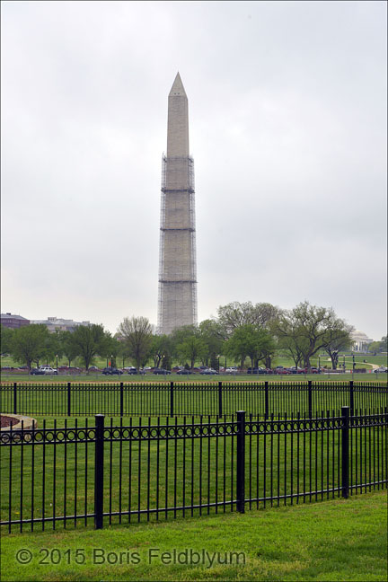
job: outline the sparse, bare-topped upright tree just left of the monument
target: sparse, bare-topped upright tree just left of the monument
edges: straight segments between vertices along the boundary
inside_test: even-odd
[[[152,327],[146,317],[125,317],[119,324],[118,333],[122,337],[129,357],[136,361],[137,369],[145,366],[153,339]]]

